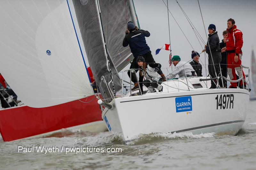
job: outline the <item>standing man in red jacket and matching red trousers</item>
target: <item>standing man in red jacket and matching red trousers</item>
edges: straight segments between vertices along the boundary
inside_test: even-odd
[[[236,28],[235,20],[230,18],[228,19],[228,37],[226,38],[226,47],[221,49],[221,52],[227,51],[228,58],[228,76],[231,80],[236,80],[236,71],[238,76],[241,78],[245,75],[244,71],[241,69],[241,60],[242,60],[242,50],[243,47],[243,33]],[[229,88],[237,88],[236,83],[231,83]],[[244,83],[244,86],[246,84]],[[243,88],[243,82],[240,82],[240,88]]]

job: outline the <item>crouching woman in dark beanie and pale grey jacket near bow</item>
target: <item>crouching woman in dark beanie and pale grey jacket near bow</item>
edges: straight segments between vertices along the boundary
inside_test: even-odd
[[[143,81],[143,84],[148,88],[150,92],[156,92],[156,89],[159,92],[163,91],[163,86],[160,85],[161,81],[157,80],[157,71],[161,68],[159,63],[146,63],[144,57],[138,56],[136,59],[137,64],[140,69],[140,89],[142,89],[142,80],[143,76],[146,80]],[[156,89],[155,89],[156,88]]]

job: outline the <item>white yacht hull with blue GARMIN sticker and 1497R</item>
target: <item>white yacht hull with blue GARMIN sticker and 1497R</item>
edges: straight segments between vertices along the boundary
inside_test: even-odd
[[[221,109],[217,104],[217,96],[218,104],[222,103]],[[186,103],[188,98],[191,106],[183,106],[182,101]],[[121,133],[126,142],[135,139],[138,134],[152,132],[215,132],[216,135],[236,135],[244,124],[248,101],[249,92],[244,89],[202,88],[147,93],[116,98],[111,103],[113,108],[106,108],[102,118],[108,129]],[[183,107],[187,109],[176,110]]]

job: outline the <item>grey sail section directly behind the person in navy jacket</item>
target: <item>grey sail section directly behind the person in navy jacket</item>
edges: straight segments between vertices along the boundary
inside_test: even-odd
[[[126,24],[132,21],[129,3],[126,0],[99,0],[99,3],[107,48],[120,71],[133,59],[130,48],[122,46]]]

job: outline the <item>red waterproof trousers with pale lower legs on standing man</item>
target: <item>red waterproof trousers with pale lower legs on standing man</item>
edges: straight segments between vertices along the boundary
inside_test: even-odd
[[[236,80],[236,72],[239,76],[239,78],[244,77],[245,80],[245,75],[243,68],[241,68],[242,64],[242,54],[239,54],[238,56],[238,61],[235,62],[235,55],[236,53],[228,53],[228,76],[230,80]],[[236,87],[236,83],[230,83],[231,86]],[[239,83],[239,86],[243,85],[243,81],[241,80]]]

